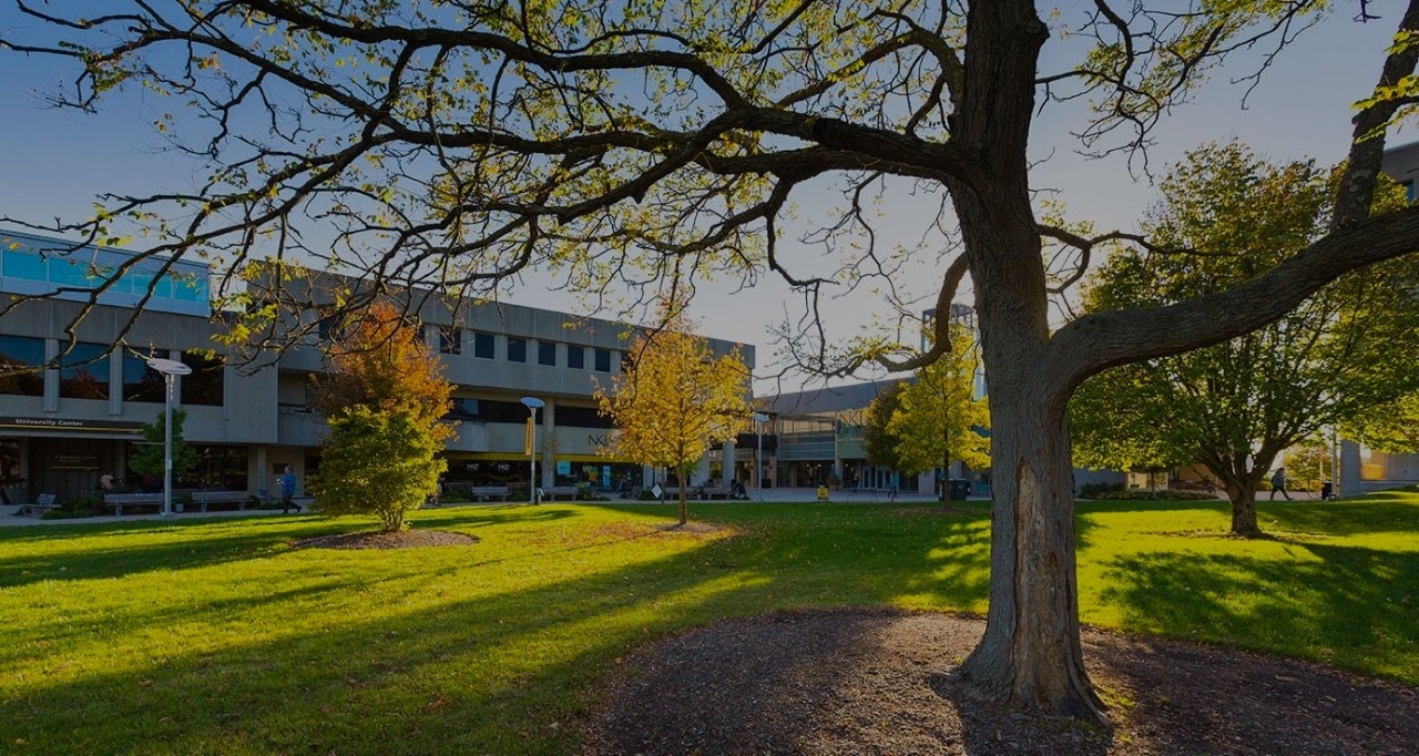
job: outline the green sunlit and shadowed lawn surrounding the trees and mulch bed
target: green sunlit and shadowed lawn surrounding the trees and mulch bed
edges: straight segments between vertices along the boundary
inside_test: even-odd
[[[0,528],[0,752],[573,753],[633,648],[721,617],[891,604],[981,613],[989,512],[464,506],[473,547],[291,549],[312,516]],[[1419,492],[1080,505],[1083,620],[1419,684]]]

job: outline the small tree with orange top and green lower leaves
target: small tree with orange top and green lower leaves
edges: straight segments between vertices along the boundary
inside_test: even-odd
[[[406,513],[438,491],[453,386],[419,329],[387,304],[338,335],[329,372],[316,380],[315,406],[331,435],[311,489],[328,515],[373,513],[385,530],[400,530]]]

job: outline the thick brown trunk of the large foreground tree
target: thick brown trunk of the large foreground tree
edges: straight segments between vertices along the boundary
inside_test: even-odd
[[[976,294],[995,502],[985,637],[959,677],[988,696],[1107,726],[1078,640],[1073,384],[1044,369],[1049,301],[1026,166],[1033,62],[1049,30],[1030,3],[972,3],[968,24],[971,65],[952,136],[979,149],[989,170],[946,186]]]

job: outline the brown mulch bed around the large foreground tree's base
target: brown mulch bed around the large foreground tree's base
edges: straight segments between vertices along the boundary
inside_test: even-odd
[[[1112,732],[973,701],[942,675],[978,618],[779,613],[660,641],[583,722],[586,753],[1412,755],[1419,689],[1318,664],[1086,630]]]

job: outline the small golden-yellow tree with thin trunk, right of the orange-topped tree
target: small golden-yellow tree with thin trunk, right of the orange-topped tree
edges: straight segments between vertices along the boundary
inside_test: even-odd
[[[680,471],[680,523],[688,522],[687,481],[712,444],[722,444],[749,427],[749,369],[738,349],[715,356],[710,342],[695,336],[681,313],[640,336],[630,366],[596,386],[603,416],[620,430],[612,438],[616,454]]]

